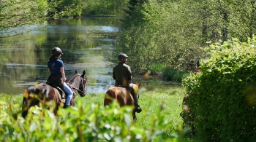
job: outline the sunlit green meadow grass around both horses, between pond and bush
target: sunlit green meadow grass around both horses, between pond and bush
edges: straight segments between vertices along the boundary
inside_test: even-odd
[[[185,95],[185,90],[181,85],[163,85],[160,82],[149,81],[143,82],[142,88],[146,92],[140,94],[139,104],[143,109],[141,113],[137,113],[137,123],[139,127],[150,128],[156,127],[153,125],[152,119],[157,119],[157,116],[162,115],[165,121],[170,122],[170,125],[165,127],[165,132],[173,132],[182,124],[182,119],[179,113],[182,111],[181,103]],[[87,94],[85,97],[77,95],[76,102],[81,102],[83,106],[92,104],[103,105],[104,93]],[[23,95],[7,95],[0,94],[1,101],[9,103],[18,103],[21,106]],[[20,107],[21,109],[21,107]]]

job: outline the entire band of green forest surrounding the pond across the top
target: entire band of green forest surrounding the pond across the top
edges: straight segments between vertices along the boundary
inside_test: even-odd
[[[256,1],[219,0],[25,0],[1,1],[0,31],[48,18],[115,16],[119,19],[116,55],[129,55],[137,74],[166,68],[192,71],[210,44],[255,34]],[[37,28],[34,30],[38,30]],[[15,32],[15,31],[12,31]],[[29,31],[28,31],[29,32]],[[17,33],[20,34],[20,33]]]

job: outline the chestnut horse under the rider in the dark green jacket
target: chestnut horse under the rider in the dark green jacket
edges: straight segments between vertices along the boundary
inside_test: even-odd
[[[138,94],[140,84],[130,84],[130,86],[133,88],[135,94]],[[134,107],[135,101],[132,97],[132,94],[124,87],[110,87],[105,94],[104,106],[108,106],[113,99],[117,100],[120,106]],[[135,109],[132,111],[132,117],[133,121],[135,122],[137,120]]]

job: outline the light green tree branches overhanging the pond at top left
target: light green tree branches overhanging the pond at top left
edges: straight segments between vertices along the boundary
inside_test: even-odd
[[[45,20],[48,4],[45,0],[0,1],[0,38],[15,36],[39,30],[40,28],[15,28],[23,25],[42,23]]]

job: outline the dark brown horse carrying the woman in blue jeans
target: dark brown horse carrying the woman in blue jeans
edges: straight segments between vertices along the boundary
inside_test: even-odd
[[[86,95],[86,86],[87,86],[87,77],[86,71],[83,71],[83,74],[78,74],[75,71],[75,76],[72,76],[71,79],[67,82],[69,87],[73,91],[73,95],[70,101],[71,106],[75,106],[75,96],[79,94],[81,97]],[[39,103],[45,101],[53,100],[56,102],[56,108],[54,113],[57,114],[59,106],[64,106],[65,99],[61,98],[59,91],[56,88],[51,87],[45,83],[35,84],[34,86],[29,87],[23,92],[23,104],[22,104],[22,117],[25,118],[28,114],[29,108],[31,106],[39,106]]]

